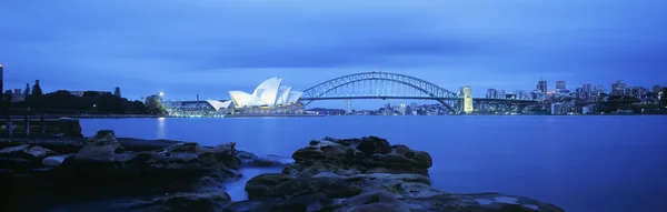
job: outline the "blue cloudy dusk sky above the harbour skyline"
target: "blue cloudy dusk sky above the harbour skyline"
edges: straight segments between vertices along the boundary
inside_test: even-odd
[[[2,0],[4,89],[228,99],[405,73],[476,95],[667,85],[665,0]],[[332,105],[342,108],[345,102]]]

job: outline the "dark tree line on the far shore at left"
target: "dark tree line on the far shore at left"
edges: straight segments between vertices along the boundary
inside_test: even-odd
[[[84,91],[81,97],[66,90],[43,93],[39,80],[32,88],[26,85],[22,92],[23,101],[12,102],[16,94],[4,91],[0,100],[0,112],[8,110],[52,111],[71,114],[165,114],[166,109],[157,95],[151,95],[147,102],[131,101],[121,97],[120,88],[111,92]]]

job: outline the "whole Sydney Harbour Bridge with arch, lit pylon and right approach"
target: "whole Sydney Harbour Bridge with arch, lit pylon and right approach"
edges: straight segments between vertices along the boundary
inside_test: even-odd
[[[469,92],[452,92],[429,81],[391,72],[364,72],[342,75],[303,91],[300,102],[308,105],[322,100],[411,99],[435,100],[450,112],[471,112],[486,105],[522,108],[536,104],[534,100],[476,98]],[[470,111],[469,111],[470,110]]]

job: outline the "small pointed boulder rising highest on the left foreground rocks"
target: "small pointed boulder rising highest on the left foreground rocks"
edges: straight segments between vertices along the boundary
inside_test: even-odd
[[[108,160],[122,151],[125,150],[116,140],[113,131],[100,130],[94,137],[89,139],[86,147],[74,157],[80,159]]]

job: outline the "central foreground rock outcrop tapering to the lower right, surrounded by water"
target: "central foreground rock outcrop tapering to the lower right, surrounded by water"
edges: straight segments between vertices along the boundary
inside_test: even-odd
[[[311,141],[282,174],[246,184],[250,200],[225,211],[563,212],[537,200],[500,193],[452,194],[430,186],[427,152],[370,137]]]

